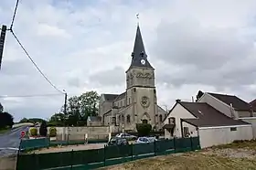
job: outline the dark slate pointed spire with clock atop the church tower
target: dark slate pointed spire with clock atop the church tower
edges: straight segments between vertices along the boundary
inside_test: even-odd
[[[129,69],[133,67],[142,67],[148,69],[154,69],[147,60],[147,55],[144,49],[144,41],[141,34],[139,25],[136,30],[136,37],[133,46],[132,63]]]

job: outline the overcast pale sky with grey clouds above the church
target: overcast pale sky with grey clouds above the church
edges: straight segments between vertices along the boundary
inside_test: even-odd
[[[1,25],[10,25],[15,5],[16,0],[0,1]],[[60,90],[121,93],[139,13],[158,104],[170,109],[197,90],[256,98],[255,9],[255,0],[21,0],[14,30]],[[0,75],[0,95],[59,93],[10,33]],[[48,118],[63,101],[63,95],[0,99],[16,121]]]

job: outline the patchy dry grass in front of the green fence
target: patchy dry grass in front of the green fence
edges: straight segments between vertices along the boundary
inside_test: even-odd
[[[123,165],[101,168],[102,170],[256,170],[256,141],[231,143],[185,154],[157,156]]]

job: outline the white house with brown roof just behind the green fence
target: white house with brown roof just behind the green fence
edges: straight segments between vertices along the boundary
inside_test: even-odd
[[[199,136],[202,148],[253,138],[249,122],[232,119],[206,102],[176,100],[164,123],[165,138]]]

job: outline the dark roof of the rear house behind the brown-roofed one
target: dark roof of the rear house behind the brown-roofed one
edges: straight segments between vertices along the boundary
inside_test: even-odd
[[[211,92],[208,92],[208,94],[213,96],[214,98],[218,99],[219,101],[225,102],[228,105],[230,105],[230,103],[232,103],[233,108],[237,111],[251,111],[250,104],[246,101],[242,101],[237,96],[211,93]]]

